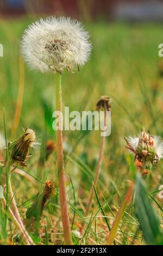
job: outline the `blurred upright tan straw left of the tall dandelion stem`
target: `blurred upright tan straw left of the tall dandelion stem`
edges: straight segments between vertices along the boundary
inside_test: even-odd
[[[24,61],[21,56],[19,58],[19,65],[20,65],[20,78],[19,78],[19,87],[18,87],[18,96],[17,96],[14,124],[12,127],[12,136],[13,137],[15,136],[18,124],[20,122],[20,116],[21,116],[21,111],[22,111],[22,102],[23,102],[23,92],[24,92]]]

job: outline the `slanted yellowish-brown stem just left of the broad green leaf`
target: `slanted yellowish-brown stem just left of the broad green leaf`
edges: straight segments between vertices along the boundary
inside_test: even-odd
[[[115,220],[112,224],[112,227],[111,227],[111,230],[110,230],[110,233],[109,233],[109,237],[108,237],[108,241],[107,241],[107,245],[112,245],[112,243],[114,242],[118,226],[121,222],[121,219],[123,217],[123,214],[124,214],[124,211],[125,211],[127,205],[131,201],[132,196],[133,196],[133,184],[131,184],[129,186],[128,191],[126,193],[126,196],[124,197],[123,202],[120,206],[120,209],[118,210],[118,213],[117,213],[117,215],[115,217]]]

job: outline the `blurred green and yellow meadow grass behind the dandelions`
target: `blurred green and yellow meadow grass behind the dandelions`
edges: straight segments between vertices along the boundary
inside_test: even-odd
[[[24,29],[35,20],[33,18],[0,21],[0,42],[4,47],[4,57],[0,59],[0,104],[1,132],[4,131],[3,107],[5,108],[8,140],[12,141],[12,126],[15,116],[19,84],[20,39]],[[120,208],[127,191],[127,180],[133,175],[129,167],[130,156],[125,149],[123,137],[137,135],[141,127],[163,137],[162,111],[163,80],[159,77],[158,45],[163,41],[160,24],[127,24],[96,22],[85,24],[91,34],[93,50],[87,64],[80,72],[64,72],[62,94],[64,105],[70,111],[88,111],[96,108],[101,95],[112,97],[111,135],[106,138],[104,159],[100,180],[95,188],[93,206],[89,216],[85,216],[87,199],[92,187],[93,175],[99,153],[99,131],[65,131],[65,171],[74,244],[105,244],[108,230]],[[163,62],[163,60],[162,60]],[[41,148],[33,151],[27,162],[26,173],[32,177],[13,173],[11,180],[18,209],[25,218],[26,209],[34,202],[45,180],[57,185],[55,152],[43,168],[40,155],[45,154],[45,142],[54,139],[52,112],[55,110],[51,95],[54,92],[54,75],[40,74],[25,66],[24,96],[20,124],[16,138],[20,137],[21,127],[31,127],[36,131]],[[152,175],[146,178],[147,190],[162,222],[162,201],[158,199],[158,187],[163,184],[163,164],[160,161]],[[55,172],[54,172],[55,169]],[[1,205],[2,207],[2,205]],[[41,238],[31,233],[35,243],[61,244],[63,234],[58,197],[52,198],[43,212]],[[1,208],[2,210],[2,208]],[[80,226],[85,220],[85,230]],[[9,219],[4,229],[3,214],[0,214],[0,243],[13,236],[18,244],[21,240]],[[6,234],[7,232],[7,234]],[[142,232],[135,216],[133,204],[124,212],[116,234],[117,245],[143,244]]]

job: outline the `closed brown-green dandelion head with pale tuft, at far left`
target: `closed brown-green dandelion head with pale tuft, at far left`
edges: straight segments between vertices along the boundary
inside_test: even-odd
[[[27,128],[23,130],[23,135],[17,141],[9,144],[10,157],[13,163],[17,162],[26,166],[25,161],[32,156],[32,154],[27,156],[29,148],[34,148],[37,145],[35,139],[35,131]]]

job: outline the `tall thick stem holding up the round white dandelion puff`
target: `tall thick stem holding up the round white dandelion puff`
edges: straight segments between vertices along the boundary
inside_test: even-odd
[[[56,110],[62,113],[61,75],[56,72]],[[61,120],[59,120],[61,122]],[[60,123],[61,124],[61,123]],[[65,186],[64,151],[62,130],[57,130],[57,169],[60,194],[61,220],[64,231],[65,245],[72,245],[70,220]]]

